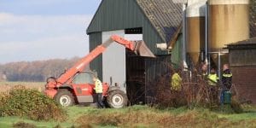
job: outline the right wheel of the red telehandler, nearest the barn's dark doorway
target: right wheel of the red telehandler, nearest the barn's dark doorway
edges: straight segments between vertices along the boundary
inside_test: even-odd
[[[122,90],[111,90],[108,92],[107,102],[110,108],[123,108],[127,106],[128,98]]]

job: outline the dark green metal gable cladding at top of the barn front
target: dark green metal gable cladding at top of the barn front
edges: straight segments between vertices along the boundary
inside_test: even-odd
[[[143,26],[143,13],[134,0],[103,0],[87,33]]]

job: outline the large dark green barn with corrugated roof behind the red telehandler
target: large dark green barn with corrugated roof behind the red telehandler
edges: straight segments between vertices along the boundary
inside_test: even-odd
[[[111,44],[90,69],[96,70],[102,81],[119,84],[128,96],[139,94],[136,102],[147,102],[145,91],[161,74],[170,73],[166,63],[171,61],[170,50],[156,48],[156,44],[176,44],[172,59],[179,62],[182,38],[182,4],[172,0],[102,0],[87,34],[90,50],[117,34],[129,40],[143,40],[156,58],[140,57],[126,51],[119,44]],[[155,84],[154,84],[155,85]]]

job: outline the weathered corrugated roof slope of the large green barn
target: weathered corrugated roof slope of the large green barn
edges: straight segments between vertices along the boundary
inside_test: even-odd
[[[177,33],[182,22],[182,3],[172,0],[137,0],[160,37],[169,42]]]

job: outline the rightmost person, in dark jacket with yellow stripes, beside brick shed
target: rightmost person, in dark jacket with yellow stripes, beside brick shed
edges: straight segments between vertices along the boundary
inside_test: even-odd
[[[230,90],[231,89],[232,73],[230,71],[230,67],[229,67],[228,64],[224,64],[224,66],[223,66],[222,84],[224,86],[224,90]]]

